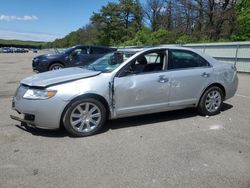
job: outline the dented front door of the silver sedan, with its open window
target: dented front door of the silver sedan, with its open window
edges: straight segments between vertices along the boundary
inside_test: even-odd
[[[161,50],[140,55],[114,78],[114,106],[117,117],[167,109],[170,73],[164,70],[165,52]]]

